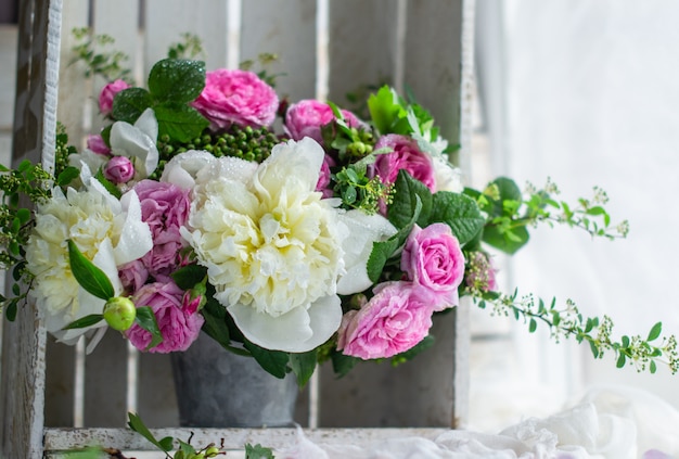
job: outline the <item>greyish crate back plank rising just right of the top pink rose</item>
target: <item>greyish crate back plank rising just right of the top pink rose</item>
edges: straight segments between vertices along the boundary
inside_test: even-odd
[[[278,54],[267,66],[277,91],[291,101],[316,95],[316,0],[248,0],[243,2],[241,61],[264,52]]]

